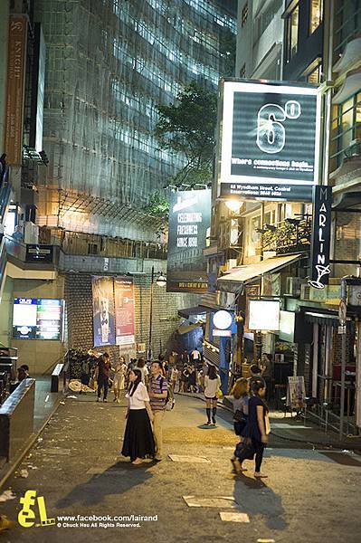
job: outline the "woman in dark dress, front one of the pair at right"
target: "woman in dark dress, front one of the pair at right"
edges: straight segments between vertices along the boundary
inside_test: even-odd
[[[233,462],[236,472],[242,472],[242,462],[254,456],[254,477],[267,477],[261,472],[264,448],[268,443],[270,433],[269,409],[264,401],[266,383],[261,377],[252,381],[252,396],[248,402],[248,421],[242,431],[244,438],[242,446],[237,445],[234,452],[236,460]]]

